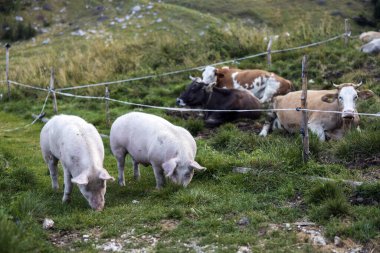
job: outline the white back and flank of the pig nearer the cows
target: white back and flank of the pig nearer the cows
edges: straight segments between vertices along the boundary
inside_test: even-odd
[[[138,162],[164,162],[182,153],[195,156],[196,144],[191,134],[167,120],[146,113],[120,116],[111,127],[112,152],[123,147]]]

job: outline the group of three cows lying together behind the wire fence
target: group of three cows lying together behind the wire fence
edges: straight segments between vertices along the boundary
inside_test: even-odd
[[[260,109],[266,108],[270,113],[260,136],[266,136],[273,127],[290,133],[300,130],[301,113],[295,109],[301,106],[301,91],[292,91],[289,80],[264,70],[211,66],[205,68],[202,77],[191,77],[192,82],[177,98],[177,105],[212,110],[205,114],[206,125],[217,126],[239,117],[258,119]],[[358,127],[356,100],[374,95],[370,90],[358,91],[360,85],[334,84],[335,90],[308,91],[308,126],[321,141],[339,139],[348,127]]]

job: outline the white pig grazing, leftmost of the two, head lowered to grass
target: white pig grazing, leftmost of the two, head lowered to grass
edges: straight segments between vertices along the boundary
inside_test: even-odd
[[[115,179],[103,168],[104,147],[96,128],[77,116],[54,116],[42,128],[40,144],[55,190],[61,160],[65,183],[62,201],[70,200],[75,183],[90,206],[102,210],[106,181]]]

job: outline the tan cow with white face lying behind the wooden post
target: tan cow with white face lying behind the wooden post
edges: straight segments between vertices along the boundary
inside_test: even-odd
[[[309,111],[308,127],[317,134],[321,141],[326,137],[340,139],[343,137],[347,125],[357,126],[359,116],[356,114],[356,101],[358,98],[367,99],[374,95],[370,90],[357,91],[361,84],[343,83],[335,85],[337,90],[309,90],[307,91],[307,108],[310,110],[339,111],[341,113]],[[301,112],[276,111],[276,109],[295,109],[301,106],[302,91],[290,92],[284,96],[277,96],[273,100],[273,120],[275,124],[290,133],[300,130]],[[264,125],[260,135],[266,136],[272,125]]]

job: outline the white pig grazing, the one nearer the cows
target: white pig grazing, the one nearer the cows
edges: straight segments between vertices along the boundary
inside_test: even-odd
[[[147,113],[131,112],[120,116],[111,127],[110,145],[119,170],[119,184],[125,185],[126,154],[133,160],[135,179],[140,178],[138,164],[151,164],[156,188],[165,183],[165,176],[174,183],[187,186],[194,170],[205,170],[194,161],[197,146],[184,128]]]

